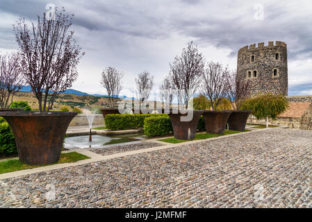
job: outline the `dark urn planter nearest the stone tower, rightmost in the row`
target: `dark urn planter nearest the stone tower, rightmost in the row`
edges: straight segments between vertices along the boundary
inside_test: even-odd
[[[232,112],[227,123],[229,124],[229,130],[245,131],[247,119],[249,114],[252,113],[250,110],[235,110]]]

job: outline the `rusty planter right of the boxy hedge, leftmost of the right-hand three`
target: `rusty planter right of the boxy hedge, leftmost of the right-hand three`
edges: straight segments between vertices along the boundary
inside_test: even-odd
[[[180,111],[178,113],[175,113],[172,112],[171,110],[170,113],[168,114],[171,119],[174,138],[184,140],[195,139],[197,124],[203,111],[190,110],[190,112],[193,113],[192,119],[190,121],[181,121],[181,117],[187,116],[188,113],[184,114],[181,113]]]

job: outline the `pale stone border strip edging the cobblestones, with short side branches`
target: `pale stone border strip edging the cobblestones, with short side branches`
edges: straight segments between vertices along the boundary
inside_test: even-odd
[[[249,131],[249,132],[235,133],[235,134],[231,134],[231,135],[224,135],[222,137],[213,137],[213,138],[208,138],[208,139],[197,139],[197,140],[192,140],[192,141],[183,142],[183,143],[179,143],[179,144],[170,144],[170,143],[166,143],[166,142],[161,142],[161,141],[158,141],[159,138],[157,138],[157,139],[145,139],[145,142],[156,142],[158,144],[162,144],[163,146],[145,148],[145,149],[140,149],[140,150],[136,150],[136,151],[127,151],[124,153],[115,153],[113,155],[99,155],[97,153],[93,153],[92,151],[88,151],[86,149],[81,149],[81,148],[78,149],[77,148],[77,149],[72,149],[70,151],[63,151],[63,152],[68,153],[68,152],[76,151],[77,153],[81,153],[83,155],[90,157],[90,159],[79,160],[78,162],[72,162],[72,163],[54,164],[54,165],[50,165],[47,167],[37,167],[37,168],[33,168],[33,169],[25,169],[22,171],[15,171],[15,172],[10,172],[10,173],[2,173],[2,174],[0,174],[0,180],[6,179],[6,178],[14,178],[17,176],[25,176],[25,175],[28,175],[31,173],[39,173],[42,171],[51,171],[54,169],[73,167],[73,166],[77,166],[77,165],[81,165],[81,164],[88,164],[90,162],[99,162],[99,161],[104,161],[104,160],[111,160],[111,159],[114,159],[117,157],[124,157],[127,155],[135,155],[135,154],[146,153],[146,152],[150,152],[150,151],[158,151],[158,150],[162,150],[162,149],[173,148],[176,146],[183,146],[183,145],[188,145],[188,144],[207,142],[207,141],[214,140],[214,139],[224,139],[227,137],[235,137],[235,136],[242,135],[242,134],[261,132],[263,130],[271,130],[271,129],[276,129],[276,128],[288,128],[288,126],[280,126],[280,127],[275,127],[275,128],[264,128],[264,129],[258,129],[256,131]],[[164,138],[166,138],[166,137],[164,137]]]

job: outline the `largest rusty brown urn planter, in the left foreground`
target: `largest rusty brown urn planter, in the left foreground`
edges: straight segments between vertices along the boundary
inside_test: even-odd
[[[60,153],[70,121],[77,112],[0,112],[15,137],[19,160],[26,164],[51,164]]]

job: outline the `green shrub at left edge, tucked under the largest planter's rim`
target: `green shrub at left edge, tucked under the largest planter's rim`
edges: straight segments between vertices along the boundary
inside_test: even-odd
[[[14,135],[6,121],[0,123],[0,155],[17,153]]]

